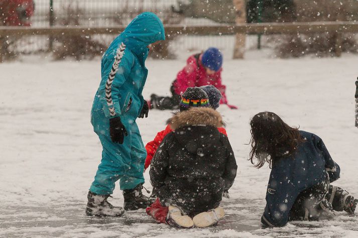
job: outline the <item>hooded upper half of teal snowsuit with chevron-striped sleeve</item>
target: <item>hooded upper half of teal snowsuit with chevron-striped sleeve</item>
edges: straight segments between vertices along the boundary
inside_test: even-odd
[[[164,27],[155,14],[146,12],[133,19],[102,56],[102,79],[92,112],[103,110],[108,119],[124,117],[122,123],[125,126],[135,122],[144,104],[142,91],[148,74],[145,67],[147,46],[161,40],[165,40]],[[116,65],[113,64],[115,60]],[[96,118],[92,118],[92,123],[93,120]]]

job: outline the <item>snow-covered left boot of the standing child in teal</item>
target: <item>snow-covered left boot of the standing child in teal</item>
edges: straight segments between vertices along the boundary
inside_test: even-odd
[[[116,207],[107,201],[109,195],[97,195],[88,191],[88,202],[86,207],[87,215],[97,216],[120,216],[125,211],[122,207]]]

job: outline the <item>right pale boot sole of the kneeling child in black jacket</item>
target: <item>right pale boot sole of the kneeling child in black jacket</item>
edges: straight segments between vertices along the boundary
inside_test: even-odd
[[[225,215],[222,207],[216,207],[213,210],[205,211],[193,217],[193,222],[196,227],[207,227],[216,224]]]

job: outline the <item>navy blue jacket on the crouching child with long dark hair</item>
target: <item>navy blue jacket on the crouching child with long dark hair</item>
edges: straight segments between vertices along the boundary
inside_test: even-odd
[[[340,168],[317,135],[300,131],[306,140],[296,152],[278,160],[272,167],[267,185],[266,207],[261,222],[284,226],[300,192],[322,182],[328,172],[330,182],[339,178]]]

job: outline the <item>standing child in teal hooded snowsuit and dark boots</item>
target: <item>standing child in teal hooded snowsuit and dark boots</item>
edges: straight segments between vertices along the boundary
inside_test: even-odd
[[[145,208],[142,194],[143,169],[147,156],[136,119],[148,116],[142,96],[148,70],[148,46],[165,40],[164,27],[153,13],[138,15],[114,39],[101,61],[101,82],[94,97],[91,123],[103,151],[102,160],[89,189],[87,215],[121,215],[107,197],[119,179],[125,209]]]

